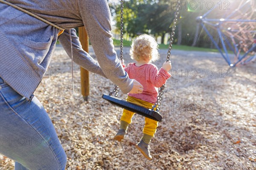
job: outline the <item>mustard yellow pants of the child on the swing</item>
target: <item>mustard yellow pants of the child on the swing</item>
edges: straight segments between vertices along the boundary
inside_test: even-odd
[[[126,101],[134,103],[136,105],[143,106],[144,108],[148,108],[148,109],[152,108],[152,105],[154,105],[152,103],[145,102],[144,100],[137,99],[131,96],[128,96],[126,98]],[[135,114],[134,112],[124,109],[121,120],[127,122],[128,124],[131,124],[131,119],[134,116],[134,114]],[[158,126],[157,121],[145,117],[145,126],[143,128],[143,133],[148,134],[150,136],[154,136],[154,133],[156,133],[157,131],[157,126]]]

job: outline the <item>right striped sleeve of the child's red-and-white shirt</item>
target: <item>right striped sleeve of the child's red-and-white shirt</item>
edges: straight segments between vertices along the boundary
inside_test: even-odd
[[[160,70],[158,71],[158,69],[155,67],[150,68],[149,74],[150,82],[157,88],[160,88],[162,85],[164,85],[166,83],[166,80],[172,76],[165,69],[160,68]]]

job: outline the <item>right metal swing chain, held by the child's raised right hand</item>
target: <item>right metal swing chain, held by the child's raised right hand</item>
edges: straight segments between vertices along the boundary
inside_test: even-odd
[[[170,56],[171,56],[172,43],[173,43],[173,38],[175,36],[175,29],[176,29],[176,23],[178,21],[177,18],[178,18],[179,10],[180,10],[180,0],[177,0],[175,18],[173,20],[172,33],[171,33],[171,37],[170,37],[169,49],[168,49],[166,62],[168,62],[170,60]],[[161,101],[163,99],[164,88],[165,88],[165,84],[160,87],[160,90],[158,91],[157,101],[155,102],[154,106],[152,107],[152,110],[154,110],[154,108],[156,108],[156,111],[160,110]]]

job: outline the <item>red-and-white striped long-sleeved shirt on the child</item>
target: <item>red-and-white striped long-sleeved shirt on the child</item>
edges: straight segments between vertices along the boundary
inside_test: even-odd
[[[137,67],[135,63],[129,63],[125,67],[125,71],[128,73],[130,79],[136,79],[143,85],[143,92],[141,94],[128,94],[128,96],[150,103],[157,101],[158,88],[165,84],[166,80],[171,77],[171,74],[163,68],[158,71],[157,66],[154,64],[144,64]]]

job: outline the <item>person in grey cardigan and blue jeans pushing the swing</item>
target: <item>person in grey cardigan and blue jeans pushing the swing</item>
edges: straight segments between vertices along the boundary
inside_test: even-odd
[[[106,1],[6,1],[0,0],[0,153],[16,161],[15,169],[63,170],[66,155],[33,95],[61,29],[66,30],[59,40],[70,56],[72,35],[73,57],[79,65],[108,77],[123,93],[141,93],[143,87],[128,78],[116,57]],[[85,26],[99,63],[81,49],[71,29],[79,26]]]

